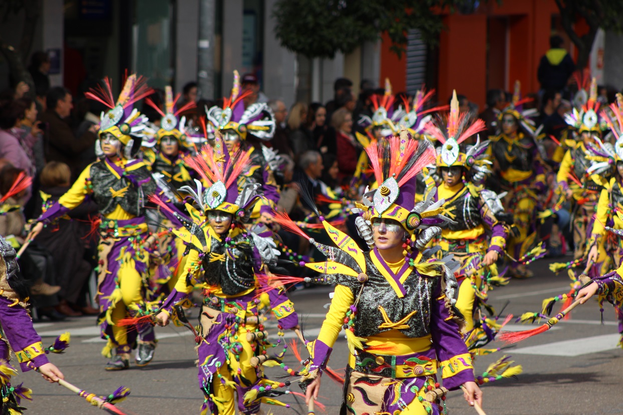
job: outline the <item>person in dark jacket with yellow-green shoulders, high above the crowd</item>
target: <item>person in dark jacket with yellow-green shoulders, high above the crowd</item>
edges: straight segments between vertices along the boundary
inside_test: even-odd
[[[538,79],[541,89],[563,90],[576,65],[571,55],[563,49],[563,38],[554,35],[549,38],[549,49],[543,57],[538,69]]]

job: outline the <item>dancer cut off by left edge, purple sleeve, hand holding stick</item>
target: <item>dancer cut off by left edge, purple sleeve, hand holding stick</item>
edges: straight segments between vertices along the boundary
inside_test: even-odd
[[[62,372],[47,360],[41,338],[32,327],[28,313],[29,283],[19,275],[16,252],[0,236],[0,413],[22,414],[21,399],[32,400],[31,389],[9,382],[17,371],[9,364],[12,350],[22,372],[35,366],[47,381],[64,379]]]

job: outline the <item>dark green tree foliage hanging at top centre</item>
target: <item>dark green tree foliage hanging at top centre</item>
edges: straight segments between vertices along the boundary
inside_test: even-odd
[[[332,58],[387,32],[392,50],[400,56],[410,29],[420,29],[429,44],[437,42],[444,26],[433,7],[470,12],[477,4],[478,0],[278,0],[273,9],[275,35],[292,52]]]

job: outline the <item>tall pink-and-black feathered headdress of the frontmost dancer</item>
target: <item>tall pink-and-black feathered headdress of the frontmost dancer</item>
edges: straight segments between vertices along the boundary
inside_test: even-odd
[[[369,206],[358,206],[363,209],[364,219],[394,219],[412,234],[422,223],[422,216],[414,211],[415,176],[435,160],[433,146],[403,130],[400,136],[373,142],[365,150],[379,187]]]

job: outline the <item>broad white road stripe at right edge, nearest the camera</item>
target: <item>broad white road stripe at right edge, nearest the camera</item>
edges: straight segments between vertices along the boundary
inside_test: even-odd
[[[541,355],[541,356],[564,356],[575,357],[598,353],[599,351],[617,349],[617,342],[621,335],[609,334],[578,338],[576,340],[554,341],[545,345],[528,346],[512,351],[513,355]]]

